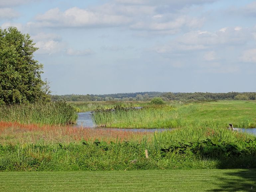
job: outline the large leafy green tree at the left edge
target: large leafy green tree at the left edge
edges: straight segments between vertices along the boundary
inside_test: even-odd
[[[34,46],[17,28],[0,28],[0,104],[50,99],[48,83],[41,79],[43,65],[33,59]]]

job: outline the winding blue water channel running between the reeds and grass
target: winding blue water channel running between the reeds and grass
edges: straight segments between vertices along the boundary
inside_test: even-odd
[[[84,127],[85,129],[86,128],[90,128],[90,129],[111,129],[111,130],[116,130],[116,131],[132,131],[132,132],[155,132],[155,131],[162,132],[162,131],[166,131],[166,130],[172,130],[172,129],[97,128],[93,123],[93,120],[92,120],[92,117],[91,117],[91,111],[78,113],[78,118],[77,118],[77,121],[76,121],[76,125],[74,127]],[[256,128],[248,128],[248,129],[242,128],[242,132],[247,132],[247,133],[251,133],[251,134],[256,135]]]

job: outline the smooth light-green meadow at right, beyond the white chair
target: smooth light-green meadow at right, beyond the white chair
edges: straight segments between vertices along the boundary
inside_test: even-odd
[[[256,127],[255,101],[218,101],[195,103],[177,108],[177,114],[188,122],[221,121],[231,122],[235,127]]]

